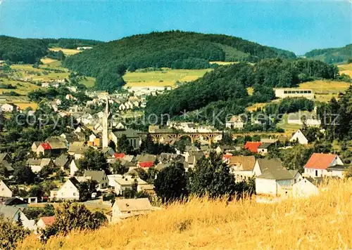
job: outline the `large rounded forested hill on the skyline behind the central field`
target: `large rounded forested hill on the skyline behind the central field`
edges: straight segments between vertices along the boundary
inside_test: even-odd
[[[133,71],[145,67],[199,69],[209,61],[257,62],[264,58],[296,57],[238,37],[195,32],[152,32],[96,46],[65,60],[65,66],[97,77],[101,69],[123,65]]]

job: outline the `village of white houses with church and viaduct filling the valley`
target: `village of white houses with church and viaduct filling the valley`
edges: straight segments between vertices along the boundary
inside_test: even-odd
[[[42,86],[46,87],[45,84]],[[25,166],[30,169],[30,175],[37,183],[51,182],[49,189],[46,187],[44,191],[43,185],[39,184],[34,185],[37,190],[34,188],[33,192],[33,182],[29,184],[27,180],[18,185],[13,157],[6,152],[0,154],[3,169],[0,213],[12,221],[20,220],[25,228],[36,232],[55,221],[55,216],[27,218],[25,208],[41,204],[82,202],[104,211],[109,223],[161,209],[160,197],[153,185],[158,173],[175,164],[182,166],[186,173],[192,172],[199,160],[210,154],[220,156],[236,183],[253,181],[256,202],[264,203],[318,195],[322,183],[344,178],[344,173],[351,169],[348,161],[333,153],[313,152],[300,166],[301,170],[288,169],[281,159],[268,157],[275,150],[308,146],[307,127],[316,131],[320,126],[316,110],[303,112],[305,119],[301,118],[301,112],[288,118],[290,124],[301,127],[291,136],[241,133],[248,123],[262,124],[259,118],[248,119],[241,115],[230,117],[222,130],[192,122],[168,121],[166,126],[150,125],[148,131],[139,131],[114,114],[127,110],[140,112],[147,96],[168,91],[168,88],[127,88],[111,95],[105,91],[86,91],[84,95],[91,100],[83,106],[75,102],[78,92],[75,86],[51,85],[47,88],[66,88],[72,93],[61,99],[54,98],[45,105],[59,117],[75,118],[69,132],[34,141],[30,152],[26,153]],[[278,89],[276,95],[279,98],[312,98],[312,91]],[[20,110],[9,103],[1,105],[1,112],[35,117],[33,110]],[[243,137],[247,137],[246,140]],[[158,153],[153,153],[146,147],[148,143],[169,146],[165,152],[161,147],[161,150],[154,150]]]

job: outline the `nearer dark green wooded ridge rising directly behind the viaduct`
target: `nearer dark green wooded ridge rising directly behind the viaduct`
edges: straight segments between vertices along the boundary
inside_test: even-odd
[[[255,65],[241,62],[219,67],[202,78],[148,100],[146,114],[180,116],[184,110],[189,119],[210,121],[220,114],[225,121],[228,114],[240,114],[253,103],[275,98],[272,88],[294,87],[313,79],[335,79],[338,68],[317,60],[261,60]],[[246,88],[253,87],[249,96]],[[196,112],[192,112],[195,111]]]

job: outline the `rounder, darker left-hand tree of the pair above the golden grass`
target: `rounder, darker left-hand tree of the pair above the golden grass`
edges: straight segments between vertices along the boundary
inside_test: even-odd
[[[161,197],[163,202],[187,197],[188,176],[180,163],[174,163],[158,173],[154,181],[156,195]]]

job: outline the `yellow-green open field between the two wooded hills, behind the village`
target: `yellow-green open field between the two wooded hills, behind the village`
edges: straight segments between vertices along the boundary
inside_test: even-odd
[[[194,81],[199,77],[203,77],[206,70],[170,70],[163,69],[160,71],[150,72],[127,72],[123,79],[127,82],[126,86],[142,87],[142,86],[175,86],[176,81]]]

